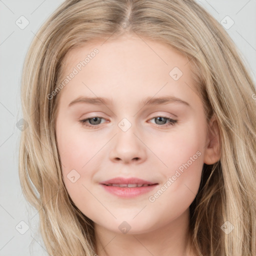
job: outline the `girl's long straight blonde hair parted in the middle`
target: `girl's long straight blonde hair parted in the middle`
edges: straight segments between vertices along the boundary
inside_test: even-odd
[[[222,26],[193,0],[66,0],[41,26],[25,58],[19,178],[37,209],[51,255],[94,255],[93,222],[69,197],[55,136],[57,97],[66,53],[96,38],[134,32],[167,43],[191,65],[207,122],[216,116],[220,160],[203,165],[190,205],[197,255],[256,255],[256,100],[251,74]],[[229,221],[229,222],[226,222]],[[223,225],[232,231],[225,233]]]

